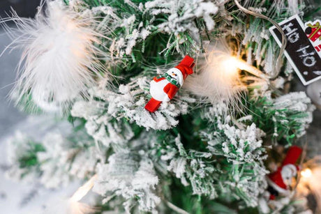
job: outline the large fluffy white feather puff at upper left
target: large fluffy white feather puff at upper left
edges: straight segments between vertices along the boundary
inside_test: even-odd
[[[13,95],[18,102],[30,97],[38,107],[53,112],[64,109],[103,72],[99,57],[94,17],[76,13],[61,3],[45,1],[34,19],[16,13],[2,22],[13,21],[17,29],[8,29],[15,38],[11,47],[22,48],[17,83]],[[96,45],[95,45],[96,44]]]

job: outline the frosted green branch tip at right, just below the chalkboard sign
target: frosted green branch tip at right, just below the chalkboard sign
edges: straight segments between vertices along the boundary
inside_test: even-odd
[[[276,99],[256,97],[248,102],[251,119],[272,140],[292,143],[306,133],[315,107],[304,92],[292,92]],[[253,114],[254,113],[254,114]]]

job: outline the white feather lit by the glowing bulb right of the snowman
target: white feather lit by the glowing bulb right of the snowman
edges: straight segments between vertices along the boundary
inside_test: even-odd
[[[184,88],[213,104],[225,102],[230,107],[238,107],[241,91],[246,89],[241,83],[239,69],[231,65],[230,50],[223,43],[207,49],[198,60],[194,75],[186,78]]]

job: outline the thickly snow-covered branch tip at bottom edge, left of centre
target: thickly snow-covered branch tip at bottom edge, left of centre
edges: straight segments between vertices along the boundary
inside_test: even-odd
[[[109,194],[124,197],[126,212],[135,205],[132,199],[137,197],[141,211],[153,211],[160,203],[154,190],[158,177],[151,160],[130,151],[114,153],[107,164],[98,167],[98,180],[94,192],[108,198]]]

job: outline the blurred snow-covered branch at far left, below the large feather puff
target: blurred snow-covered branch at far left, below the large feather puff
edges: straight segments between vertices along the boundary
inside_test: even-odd
[[[37,178],[46,188],[66,186],[73,178],[84,179],[96,170],[99,157],[91,144],[86,141],[74,144],[59,132],[48,132],[40,142],[33,142],[28,135],[17,132],[8,140],[10,169],[6,173],[10,178],[27,182]],[[35,151],[35,146],[41,149]],[[30,157],[33,165],[22,167],[22,161]]]

